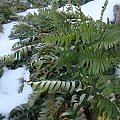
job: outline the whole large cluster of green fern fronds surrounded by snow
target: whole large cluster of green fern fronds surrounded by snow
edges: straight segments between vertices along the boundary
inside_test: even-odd
[[[41,9],[14,28],[15,38],[24,34],[0,62],[26,64],[33,93],[11,111],[10,120],[119,119],[120,26],[101,19],[80,9],[71,14]]]

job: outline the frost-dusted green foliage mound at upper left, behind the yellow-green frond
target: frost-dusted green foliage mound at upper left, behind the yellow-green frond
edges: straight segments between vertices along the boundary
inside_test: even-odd
[[[77,15],[70,15],[65,13],[59,13],[55,8],[40,9],[39,14],[27,15],[21,24],[16,25],[13,28],[11,39],[19,38],[24,40],[26,38],[34,37],[40,39],[44,35],[48,35],[51,32],[56,32],[65,26],[69,26],[70,21],[68,18],[77,18]],[[66,22],[64,22],[66,21]]]

